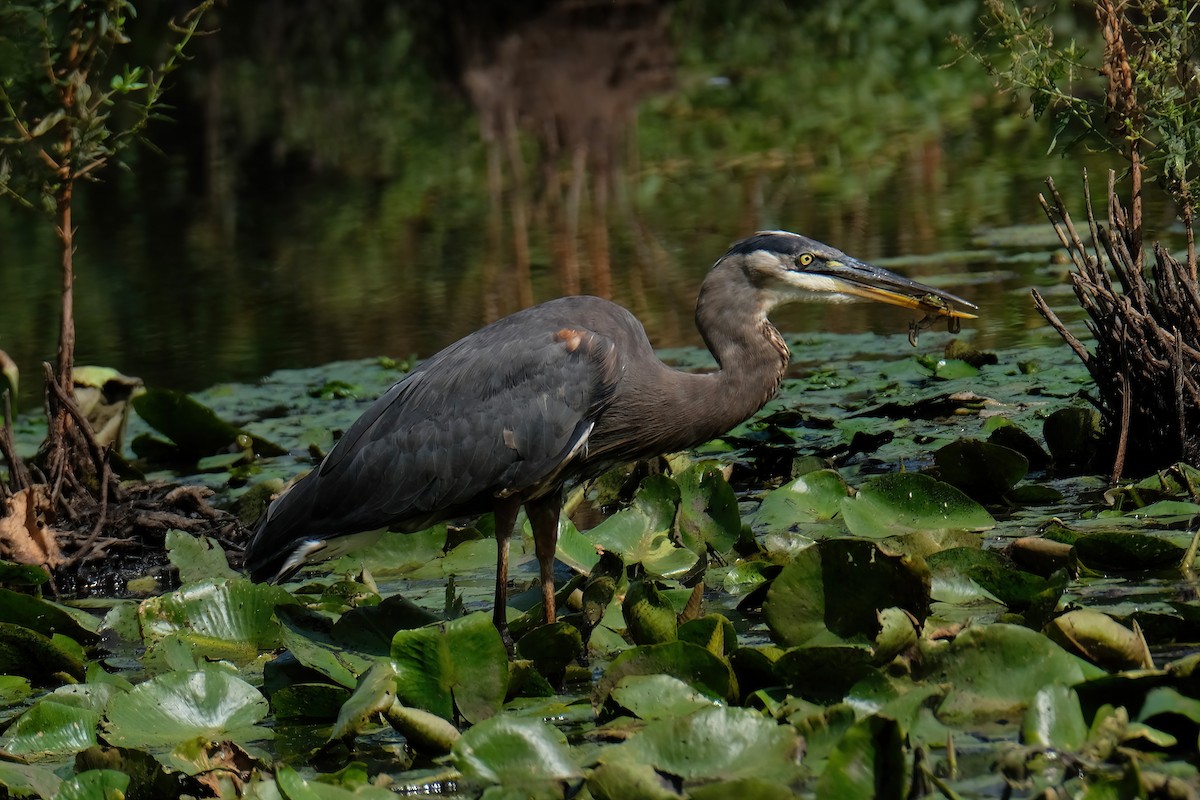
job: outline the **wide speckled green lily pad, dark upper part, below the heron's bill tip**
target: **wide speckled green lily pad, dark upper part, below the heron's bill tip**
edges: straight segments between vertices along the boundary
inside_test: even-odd
[[[949,483],[919,473],[880,475],[841,501],[856,536],[884,539],[918,531],[988,530],[996,521]]]

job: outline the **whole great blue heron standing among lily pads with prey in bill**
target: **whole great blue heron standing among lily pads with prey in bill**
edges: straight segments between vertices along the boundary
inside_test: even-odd
[[[719,437],[769,401],[788,350],[767,319],[799,300],[854,299],[971,318],[961,297],[787,231],[734,243],[700,288],[696,326],[720,369],[679,372],[641,323],[600,297],[562,297],[455,342],[368,408],[318,468],[271,504],[246,549],[281,581],[382,529],[496,515],[497,628],[506,631],[509,537],[523,505],[547,621],[563,485]]]

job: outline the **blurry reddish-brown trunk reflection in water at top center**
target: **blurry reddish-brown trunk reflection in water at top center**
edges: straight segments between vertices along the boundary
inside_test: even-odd
[[[485,138],[500,132],[512,169],[506,198],[521,305],[533,303],[530,251],[539,233],[560,293],[610,295],[608,212],[620,148],[630,140],[637,104],[673,80],[668,4],[547,0],[532,7],[457,0],[451,8],[463,86]],[[518,127],[538,145],[532,173],[541,178],[540,187],[524,178]],[[530,230],[530,207],[544,212],[546,229]]]

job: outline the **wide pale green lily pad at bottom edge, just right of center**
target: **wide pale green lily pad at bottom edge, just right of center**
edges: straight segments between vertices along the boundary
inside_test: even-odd
[[[685,784],[748,777],[786,786],[799,775],[799,756],[791,726],[750,709],[713,706],[652,722],[600,762],[649,764]]]

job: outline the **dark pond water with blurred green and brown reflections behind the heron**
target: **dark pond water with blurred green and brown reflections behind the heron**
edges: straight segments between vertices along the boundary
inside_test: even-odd
[[[184,10],[140,4],[118,60],[154,61]],[[659,345],[698,344],[695,288],[763,228],[868,259],[930,254],[902,269],[956,272],[954,290],[985,308],[982,344],[1019,343],[1040,326],[1027,287],[1057,272],[961,251],[980,229],[1039,222],[1042,178],[1070,185],[1099,157],[1049,157],[1021,103],[962,60],[950,37],[974,41],[982,13],[977,0],[221,6],[220,32],[172,76],[156,149],[83,188],[79,363],[198,389],[425,356],[576,291],[628,305]],[[1094,36],[1086,4],[1055,14],[1056,30]],[[24,68],[18,50],[0,48],[0,72]],[[29,374],[54,353],[56,267],[53,230],[0,204],[0,349]],[[800,308],[781,324],[904,330],[877,313]]]

